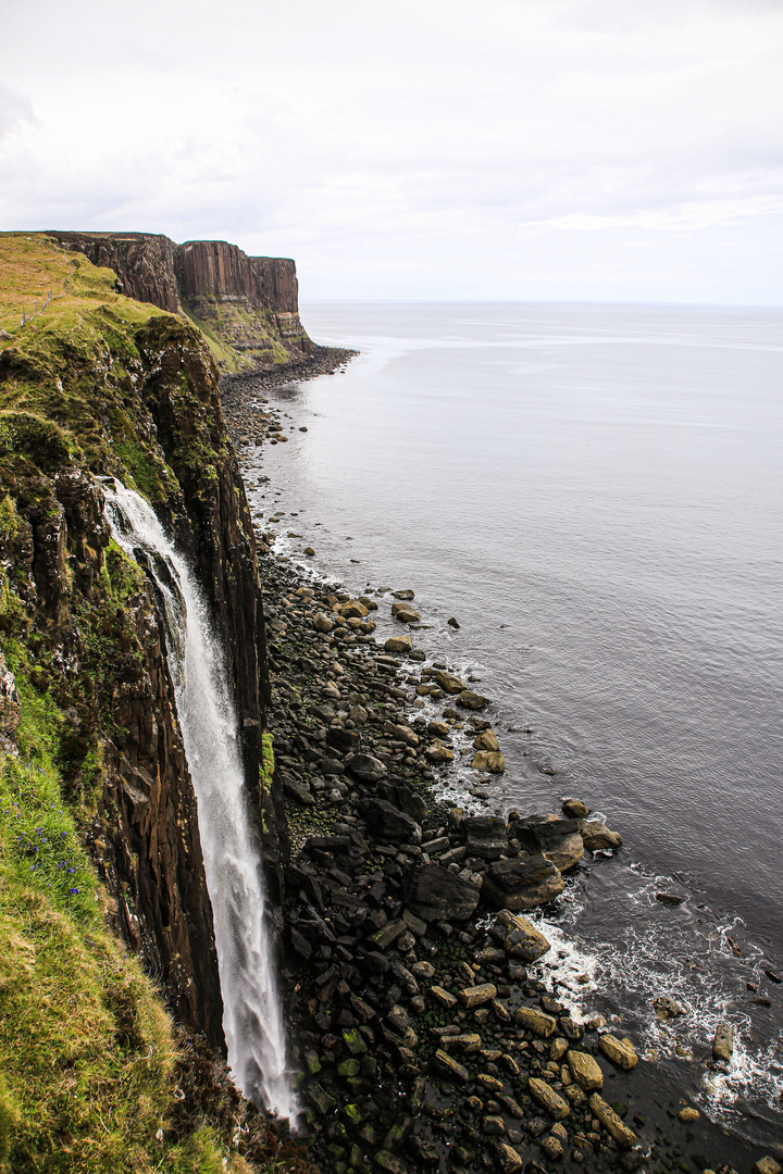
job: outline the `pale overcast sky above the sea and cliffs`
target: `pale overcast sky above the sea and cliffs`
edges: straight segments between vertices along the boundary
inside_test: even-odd
[[[783,0],[2,0],[0,227],[303,301],[783,304]]]

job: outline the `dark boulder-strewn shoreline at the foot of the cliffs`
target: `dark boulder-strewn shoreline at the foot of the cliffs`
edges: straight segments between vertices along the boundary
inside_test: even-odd
[[[295,426],[264,391],[347,358],[224,382],[239,453]],[[274,754],[291,839],[283,977],[313,1162],[335,1174],[729,1174],[720,1131],[682,1100],[653,1105],[632,1041],[561,985],[555,951],[525,916],[620,836],[578,799],[505,817],[439,802],[433,785],[460,750],[485,778],[502,772],[491,700],[416,647],[412,591],[351,598],[275,553],[282,517],[257,522],[268,763]],[[373,616],[387,608],[398,632],[379,645]],[[472,795],[487,796],[480,775]],[[659,1014],[677,1013],[660,1003]]]

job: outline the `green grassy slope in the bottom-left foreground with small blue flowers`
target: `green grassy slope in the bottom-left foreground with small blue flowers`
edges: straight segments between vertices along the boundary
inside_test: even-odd
[[[0,1170],[221,1170],[208,1132],[164,1143],[178,1059],[160,996],[106,931],[58,768],[63,720],[16,669],[0,749]]]

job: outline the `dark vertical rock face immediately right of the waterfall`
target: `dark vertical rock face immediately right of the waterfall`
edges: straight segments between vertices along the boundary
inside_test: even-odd
[[[234,682],[245,785],[264,844],[268,885],[279,898],[286,859],[285,809],[277,787],[259,791],[262,731],[269,703],[266,636],[256,540],[236,456],[221,409],[218,376],[193,328],[153,318],[137,336],[150,364],[146,404],[180,485],[158,505],[189,551],[207,592]]]

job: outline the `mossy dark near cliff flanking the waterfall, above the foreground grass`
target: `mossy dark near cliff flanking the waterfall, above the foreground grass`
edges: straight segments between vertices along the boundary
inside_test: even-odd
[[[263,796],[265,821],[258,803],[261,585],[217,371],[187,322],[117,296],[107,275],[43,241],[25,250],[58,292],[15,332],[0,312],[0,646],[56,714],[66,801],[115,926],[184,1023],[220,1046],[211,906],[164,629],[149,582],[110,540],[100,481],[116,475],[147,497],[198,572],[274,879],[285,836],[279,797]]]

